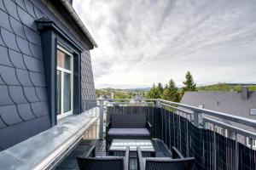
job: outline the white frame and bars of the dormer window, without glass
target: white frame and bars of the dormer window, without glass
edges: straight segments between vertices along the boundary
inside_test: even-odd
[[[70,70],[64,69],[62,67],[57,66],[56,71],[61,71],[61,114],[57,115],[57,120],[70,116],[73,114],[73,54],[71,54],[67,49],[62,48],[60,45],[57,45],[57,49],[61,50],[63,53],[68,54],[70,56]],[[57,56],[56,56],[57,57]],[[69,73],[71,77],[71,110],[67,112],[63,112],[64,110],[64,98],[63,98],[63,92],[64,92],[64,72]],[[57,113],[56,113],[57,114]]]

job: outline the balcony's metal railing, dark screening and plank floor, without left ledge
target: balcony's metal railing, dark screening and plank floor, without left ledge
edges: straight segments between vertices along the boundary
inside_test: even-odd
[[[90,115],[98,117],[98,121],[84,133],[79,145],[57,165],[57,169],[79,169],[76,157],[84,156],[92,145],[96,146],[96,156],[108,155],[106,124],[111,115],[125,114],[146,115],[152,125],[156,157],[172,157],[170,150],[175,146],[183,156],[195,157],[193,169],[256,168],[253,147],[256,134],[245,130],[256,127],[253,120],[161,99],[100,99],[96,103],[99,109],[91,111]],[[84,102],[84,107],[85,104],[88,102]],[[129,164],[130,169],[139,169],[137,156],[131,154]]]

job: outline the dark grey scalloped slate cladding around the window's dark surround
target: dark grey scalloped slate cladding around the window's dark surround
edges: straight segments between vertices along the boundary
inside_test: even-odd
[[[44,58],[35,20],[50,18],[74,42],[79,40],[61,24],[39,0],[0,0],[0,150],[48,129],[49,105],[46,94]],[[90,54],[83,55],[86,62]],[[91,65],[82,65],[83,75],[90,72],[83,87],[95,98]],[[86,85],[85,85],[86,84]],[[91,85],[93,84],[93,85]]]

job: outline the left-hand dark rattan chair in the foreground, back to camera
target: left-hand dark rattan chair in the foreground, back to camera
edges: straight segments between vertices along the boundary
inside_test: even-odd
[[[77,157],[80,170],[128,170],[129,147],[123,156],[96,156],[95,146],[91,147],[85,156]]]

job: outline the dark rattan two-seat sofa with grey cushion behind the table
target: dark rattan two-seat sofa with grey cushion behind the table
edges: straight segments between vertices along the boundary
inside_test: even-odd
[[[143,113],[110,115],[106,128],[108,146],[112,139],[151,139],[151,124]]]

